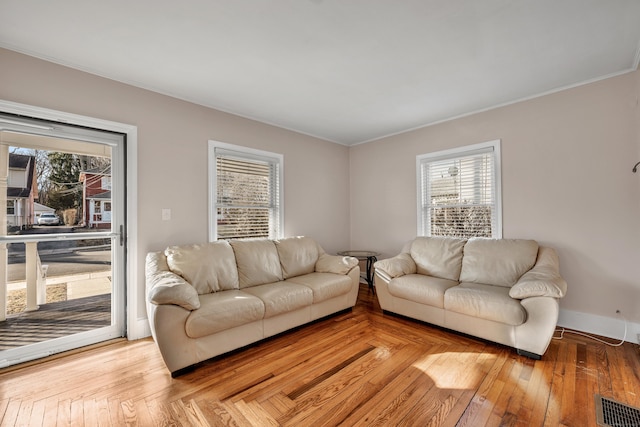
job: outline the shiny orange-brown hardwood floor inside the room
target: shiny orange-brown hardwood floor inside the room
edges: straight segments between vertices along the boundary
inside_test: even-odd
[[[566,334],[541,361],[353,312],[172,379],[155,344],[118,342],[0,373],[0,425],[595,426],[594,395],[640,406],[640,352]]]

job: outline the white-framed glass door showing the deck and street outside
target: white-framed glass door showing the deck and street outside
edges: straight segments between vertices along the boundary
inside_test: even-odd
[[[0,367],[124,336],[125,143],[0,114]]]

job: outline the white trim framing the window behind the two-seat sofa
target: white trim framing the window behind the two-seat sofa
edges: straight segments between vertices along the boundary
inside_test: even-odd
[[[464,147],[456,147],[448,150],[436,151],[433,153],[421,154],[416,156],[416,207],[417,207],[417,236],[429,236],[431,229],[425,227],[425,218],[422,216],[422,180],[420,174],[420,165],[423,160],[429,161],[444,160],[447,158],[462,157],[465,155],[471,155],[476,151],[484,151],[487,148],[492,148],[495,161],[495,194],[496,194],[496,230],[493,237],[497,239],[502,238],[502,165],[500,144],[501,140],[496,139],[493,141],[481,142],[479,144],[466,145]],[[426,230],[426,233],[423,231]]]

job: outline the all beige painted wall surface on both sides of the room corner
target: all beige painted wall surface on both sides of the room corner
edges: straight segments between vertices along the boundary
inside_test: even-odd
[[[558,249],[563,310],[640,322],[640,72],[348,149],[7,50],[0,64],[0,99],[138,127],[140,263],[207,239],[209,139],[284,155],[286,235],[382,257],[415,236],[416,155],[501,139],[504,237]]]

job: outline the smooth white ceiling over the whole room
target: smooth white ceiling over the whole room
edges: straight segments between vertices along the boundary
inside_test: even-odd
[[[0,46],[345,145],[629,72],[638,0],[0,0]]]

